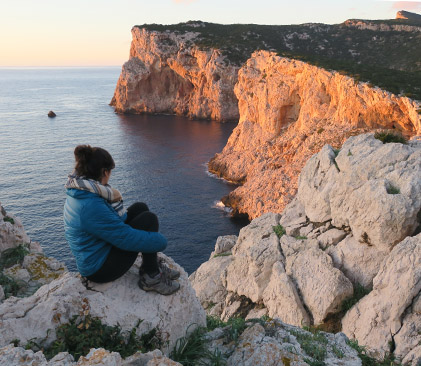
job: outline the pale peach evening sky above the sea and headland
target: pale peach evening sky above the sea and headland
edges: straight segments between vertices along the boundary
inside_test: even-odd
[[[0,67],[121,66],[145,23],[337,24],[399,10],[421,13],[421,1],[0,0]]]

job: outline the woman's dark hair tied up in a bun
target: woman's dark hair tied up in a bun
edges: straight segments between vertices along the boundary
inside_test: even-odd
[[[89,145],[75,148],[76,174],[88,179],[100,180],[104,170],[114,169],[114,160],[107,150]]]

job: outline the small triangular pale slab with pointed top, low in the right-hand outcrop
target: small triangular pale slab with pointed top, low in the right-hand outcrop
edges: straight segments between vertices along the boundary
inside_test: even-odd
[[[269,316],[279,318],[287,324],[303,326],[310,324],[294,283],[285,272],[281,262],[272,267],[272,276],[263,293],[263,302]]]

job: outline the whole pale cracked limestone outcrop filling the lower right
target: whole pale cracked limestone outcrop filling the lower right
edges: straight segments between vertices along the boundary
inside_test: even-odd
[[[223,319],[268,315],[342,331],[383,358],[421,362],[421,141],[350,137],[301,171],[282,214],[220,237],[190,276]],[[354,305],[355,304],[355,305]]]

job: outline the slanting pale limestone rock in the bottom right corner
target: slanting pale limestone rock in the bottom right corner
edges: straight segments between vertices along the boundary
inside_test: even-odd
[[[393,337],[399,357],[408,356],[421,341],[416,301],[421,291],[420,268],[418,234],[396,245],[386,257],[373,280],[373,291],[342,320],[343,331],[380,355],[389,351]],[[417,305],[415,309],[411,309],[413,303]]]

